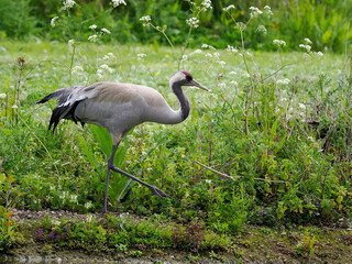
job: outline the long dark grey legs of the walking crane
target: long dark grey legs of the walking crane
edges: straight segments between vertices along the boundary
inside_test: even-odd
[[[156,188],[155,186],[153,185],[150,185],[136,177],[134,177],[133,175],[127,173],[127,172],[123,172],[122,169],[118,168],[114,164],[113,164],[113,157],[114,157],[114,154],[118,150],[118,146],[119,146],[120,142],[116,145],[112,146],[112,152],[111,152],[111,155],[108,160],[108,175],[107,175],[107,186],[106,186],[106,194],[105,194],[105,197],[103,197],[103,208],[102,208],[102,211],[101,211],[101,215],[100,216],[103,216],[107,211],[108,211],[108,189],[109,189],[109,179],[110,179],[110,170],[113,170],[113,172],[117,172],[123,176],[127,176],[127,177],[130,177],[131,179],[148,187],[155,195],[157,195],[158,197],[161,198],[164,198],[164,197],[168,197],[170,198],[169,195],[166,195],[163,190]]]

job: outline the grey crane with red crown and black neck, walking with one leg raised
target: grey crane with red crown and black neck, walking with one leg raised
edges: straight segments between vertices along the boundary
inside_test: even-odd
[[[164,97],[153,88],[110,81],[62,88],[45,96],[37,102],[44,103],[51,99],[58,100],[48,125],[48,130],[53,127],[53,132],[62,119],[67,119],[75,123],[80,122],[82,127],[85,123],[103,127],[110,133],[112,152],[108,158],[108,174],[101,216],[108,211],[108,188],[111,170],[146,186],[161,198],[169,198],[169,195],[163,190],[118,168],[113,164],[113,157],[121,140],[135,125],[143,122],[176,124],[188,117],[190,107],[182,89],[183,86],[194,86],[208,90],[196,81],[188,72],[179,70],[169,79],[169,87],[180,105],[179,110],[173,110]]]

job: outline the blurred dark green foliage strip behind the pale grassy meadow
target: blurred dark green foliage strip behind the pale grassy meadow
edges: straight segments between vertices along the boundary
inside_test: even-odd
[[[201,2],[196,0],[195,2]],[[155,24],[168,28],[167,35],[176,44],[182,44],[187,38],[188,26],[185,20],[189,16],[189,2],[185,0],[144,1],[131,0],[128,6],[120,6],[111,13],[105,13],[110,7],[109,1],[90,0],[77,1],[80,8],[74,8],[70,13],[76,19],[70,20],[69,31],[51,29],[50,21],[59,14],[57,7],[61,0],[0,0],[0,32],[1,37],[15,37],[30,40],[44,37],[45,40],[68,41],[79,34],[80,40],[86,41],[90,30],[89,24],[81,24],[80,21],[96,18],[94,21],[100,28],[112,30],[109,38],[105,42],[119,43],[143,43],[143,44],[167,44],[165,38],[157,32],[141,26],[139,19],[143,15],[151,15]],[[352,0],[284,0],[284,1],[212,1],[212,10],[201,15],[201,25],[197,34],[193,35],[191,46],[202,43],[216,47],[226,47],[228,44],[239,46],[241,44],[239,32],[233,31],[231,18],[222,12],[229,4],[235,4],[233,18],[237,21],[246,21],[250,7],[264,8],[268,4],[274,12],[274,20],[271,21],[271,30],[267,32],[268,40],[280,38],[287,42],[290,50],[299,50],[300,40],[309,37],[317,40],[315,48],[344,52],[344,41],[351,40],[349,24],[352,18]],[[102,15],[105,13],[105,15]],[[252,26],[246,31],[246,46],[255,50],[271,51],[272,42],[266,41],[257,34],[256,28]],[[77,40],[77,37],[75,37]]]

